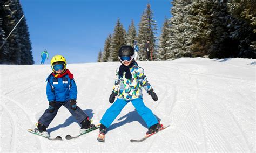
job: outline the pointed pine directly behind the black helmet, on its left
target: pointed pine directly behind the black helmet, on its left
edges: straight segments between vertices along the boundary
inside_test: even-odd
[[[126,31],[118,18],[117,24],[114,27],[114,33],[111,41],[111,52],[108,61],[119,61],[118,50],[126,44]]]

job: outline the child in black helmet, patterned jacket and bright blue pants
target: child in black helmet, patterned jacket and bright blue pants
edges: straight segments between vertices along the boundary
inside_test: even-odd
[[[142,88],[144,88],[154,101],[157,101],[157,94],[147,81],[144,75],[144,69],[139,67],[134,60],[134,50],[131,46],[122,46],[118,51],[118,58],[122,65],[116,71],[116,80],[114,82],[113,91],[109,97],[109,102],[113,103],[117,96],[116,102],[106,110],[100,120],[100,129],[98,141],[104,142],[107,128],[120,114],[124,106],[131,102],[136,108],[138,114],[146,122],[149,130],[146,134],[151,134],[161,128],[159,121],[152,111],[143,103]]]

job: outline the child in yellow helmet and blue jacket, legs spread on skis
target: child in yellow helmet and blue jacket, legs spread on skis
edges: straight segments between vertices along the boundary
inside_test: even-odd
[[[46,79],[49,108],[38,120],[39,133],[48,136],[46,127],[49,126],[61,106],[66,107],[81,124],[81,133],[86,129],[93,128],[94,125],[91,124],[88,115],[76,105],[77,86],[73,74],[66,69],[66,59],[62,55],[56,55],[51,59],[51,68],[53,72]]]

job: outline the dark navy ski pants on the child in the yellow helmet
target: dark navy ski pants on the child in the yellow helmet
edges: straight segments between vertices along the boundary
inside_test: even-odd
[[[85,114],[83,110],[78,106],[76,110],[71,109],[70,100],[67,100],[65,102],[56,102],[55,110],[52,113],[49,112],[48,109],[46,109],[44,114],[39,118],[38,122],[42,123],[45,127],[48,127],[51,121],[57,115],[59,108],[62,106],[66,107],[69,110],[69,112],[72,114],[73,117],[75,117],[78,123],[81,123],[88,117],[88,115]]]

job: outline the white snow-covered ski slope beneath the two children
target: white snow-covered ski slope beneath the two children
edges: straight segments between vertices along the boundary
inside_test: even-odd
[[[112,123],[105,143],[98,130],[75,140],[49,141],[26,130],[48,108],[49,65],[0,65],[1,152],[53,151],[255,151],[254,59],[181,58],[138,62],[159,100],[144,93],[147,107],[171,126],[142,143],[146,125],[129,103]],[[105,110],[119,62],[69,64],[78,87],[77,105],[94,123]],[[80,127],[64,107],[48,127],[52,137],[75,135]]]

